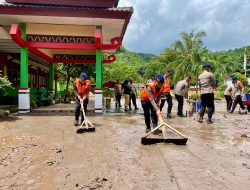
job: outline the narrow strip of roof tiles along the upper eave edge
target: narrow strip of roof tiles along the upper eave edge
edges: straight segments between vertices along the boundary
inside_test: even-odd
[[[127,11],[133,12],[133,7],[113,7],[113,8],[100,8],[100,7],[80,7],[80,6],[62,6],[62,5],[38,5],[38,4],[13,4],[0,2],[1,6],[8,7],[27,7],[27,8],[51,8],[51,9],[78,9],[78,10],[100,10],[100,11]]]

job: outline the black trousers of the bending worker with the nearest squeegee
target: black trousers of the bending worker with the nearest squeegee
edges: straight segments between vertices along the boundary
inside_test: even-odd
[[[150,102],[141,100],[141,105],[144,111],[144,119],[145,119],[145,124],[146,124],[147,129],[150,129],[150,123],[151,123],[150,115],[152,118],[153,125],[157,126],[158,118],[156,115],[156,110],[153,108],[152,104]]]

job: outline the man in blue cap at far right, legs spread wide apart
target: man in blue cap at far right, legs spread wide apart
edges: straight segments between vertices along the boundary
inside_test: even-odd
[[[237,104],[240,105],[241,109],[245,112],[247,112],[247,110],[245,110],[245,106],[242,102],[242,93],[243,93],[243,84],[238,80],[237,77],[232,77],[232,83],[234,86],[233,89],[233,94],[234,94],[234,101],[233,101],[233,106],[232,109],[230,111],[230,113],[233,113]]]

